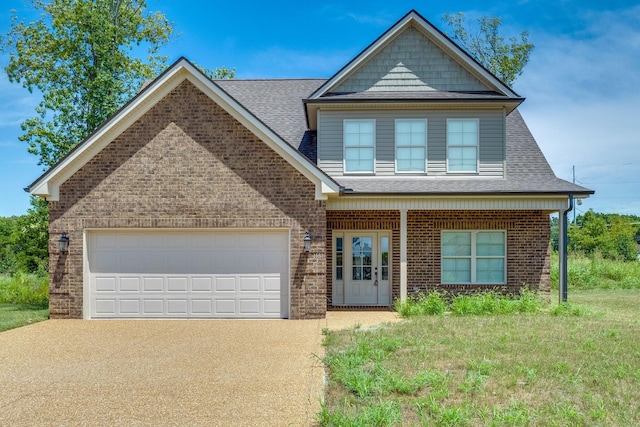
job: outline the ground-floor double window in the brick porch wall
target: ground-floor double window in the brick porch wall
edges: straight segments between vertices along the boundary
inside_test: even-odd
[[[504,231],[443,231],[442,283],[504,284]]]

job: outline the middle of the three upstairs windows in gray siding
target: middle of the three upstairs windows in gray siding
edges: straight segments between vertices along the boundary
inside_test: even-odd
[[[396,171],[425,172],[427,121],[396,120]]]

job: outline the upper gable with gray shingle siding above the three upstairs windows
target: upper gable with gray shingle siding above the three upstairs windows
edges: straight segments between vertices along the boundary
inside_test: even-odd
[[[456,108],[491,103],[510,113],[524,98],[415,10],[411,10],[304,100],[307,123],[317,127],[323,107],[379,108],[412,103]],[[405,105],[406,107],[406,105]],[[393,107],[391,107],[393,108]]]

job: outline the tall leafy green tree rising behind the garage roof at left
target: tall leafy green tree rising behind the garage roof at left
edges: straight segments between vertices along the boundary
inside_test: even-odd
[[[0,45],[10,54],[9,80],[42,94],[20,139],[51,166],[157,74],[172,24],[147,12],[144,0],[33,0],[32,7],[40,18],[27,24],[14,12]],[[140,47],[146,60],[133,56]]]

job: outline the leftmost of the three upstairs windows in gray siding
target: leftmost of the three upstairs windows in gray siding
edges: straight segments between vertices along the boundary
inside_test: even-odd
[[[374,172],[375,127],[375,120],[344,121],[345,172]]]

